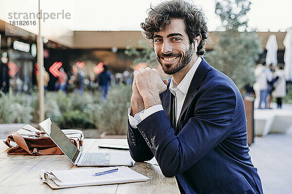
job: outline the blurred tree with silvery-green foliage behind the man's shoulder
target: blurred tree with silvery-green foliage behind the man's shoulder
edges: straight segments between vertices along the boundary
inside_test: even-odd
[[[210,64],[229,76],[239,89],[255,80],[254,65],[261,53],[256,32],[246,32],[246,13],[250,5],[249,0],[216,1],[215,13],[219,15],[225,31],[215,32],[219,35],[219,41],[205,57]]]

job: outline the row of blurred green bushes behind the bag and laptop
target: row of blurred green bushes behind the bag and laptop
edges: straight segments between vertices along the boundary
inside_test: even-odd
[[[131,95],[131,85],[124,84],[112,86],[104,102],[99,92],[85,91],[80,96],[46,91],[45,118],[51,117],[63,129],[96,128],[110,134],[126,134]],[[30,95],[2,94],[0,106],[0,123],[39,122],[37,90]]]

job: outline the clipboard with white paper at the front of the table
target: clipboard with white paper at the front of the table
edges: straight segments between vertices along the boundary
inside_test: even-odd
[[[93,173],[114,168],[118,168],[118,171],[100,176],[92,176]],[[50,171],[44,173],[44,176],[41,177],[42,182],[47,183],[52,189],[140,182],[150,179],[126,166]]]

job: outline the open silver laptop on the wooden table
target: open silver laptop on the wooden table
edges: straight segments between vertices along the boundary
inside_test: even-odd
[[[80,152],[51,118],[38,125],[75,166],[133,166],[129,152]]]

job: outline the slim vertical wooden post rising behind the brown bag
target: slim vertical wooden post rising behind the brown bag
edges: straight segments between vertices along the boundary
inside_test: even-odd
[[[38,0],[38,13],[40,13],[40,0]],[[41,18],[38,19],[38,34],[37,34],[37,64],[38,64],[38,120],[39,122],[45,119],[45,110],[44,110],[44,46],[43,39],[41,36],[40,30]]]

